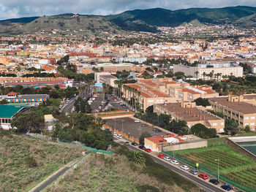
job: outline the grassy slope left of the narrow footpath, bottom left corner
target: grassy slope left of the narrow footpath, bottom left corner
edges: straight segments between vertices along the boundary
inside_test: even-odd
[[[83,149],[59,145],[0,131],[0,191],[28,191],[37,183],[80,156]],[[26,157],[33,156],[37,166],[29,167]]]

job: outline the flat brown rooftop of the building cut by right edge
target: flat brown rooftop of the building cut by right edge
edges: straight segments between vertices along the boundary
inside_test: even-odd
[[[241,112],[244,114],[256,113],[255,105],[248,104],[244,101],[230,102],[230,101],[228,101],[228,96],[212,97],[212,98],[208,98],[208,100],[211,102],[217,102],[217,104],[221,104],[222,106],[225,106],[225,107],[229,108],[230,110],[234,110],[234,111]]]

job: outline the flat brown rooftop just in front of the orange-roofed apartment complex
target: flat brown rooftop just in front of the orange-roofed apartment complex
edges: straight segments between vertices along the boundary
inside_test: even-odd
[[[197,117],[197,115],[199,115],[199,116],[201,116],[201,118],[203,118],[201,120],[219,120],[219,119],[221,119],[215,115],[211,115],[208,112],[198,110],[197,108],[181,107],[181,104],[179,104],[179,103],[156,104],[156,105],[158,105],[159,107],[165,108],[169,112],[175,112],[175,115],[178,118],[183,118],[186,121],[200,120],[200,117]]]

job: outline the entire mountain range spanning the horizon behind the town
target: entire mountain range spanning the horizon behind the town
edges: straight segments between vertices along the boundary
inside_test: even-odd
[[[203,24],[233,24],[256,27],[256,7],[223,7],[191,9],[135,9],[116,15],[53,15],[16,18],[0,21],[0,33],[23,33],[38,29],[75,29],[91,33],[99,31],[148,31],[157,32],[158,26],[180,26],[197,20]]]

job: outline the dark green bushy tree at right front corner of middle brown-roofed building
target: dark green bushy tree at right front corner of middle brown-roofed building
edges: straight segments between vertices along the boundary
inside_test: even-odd
[[[192,126],[191,132],[192,134],[195,134],[203,139],[214,138],[217,134],[216,128],[207,128],[201,123],[197,123]]]

